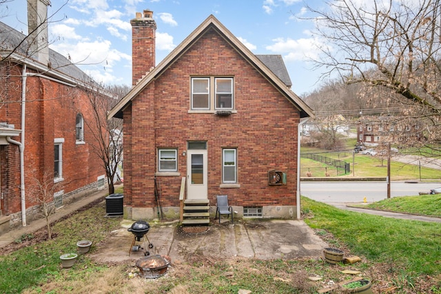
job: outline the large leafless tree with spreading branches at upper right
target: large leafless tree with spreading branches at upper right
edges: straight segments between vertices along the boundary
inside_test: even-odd
[[[366,98],[402,105],[402,116],[424,121],[424,139],[441,138],[441,0],[327,2],[314,13],[325,40],[318,67],[360,83]]]

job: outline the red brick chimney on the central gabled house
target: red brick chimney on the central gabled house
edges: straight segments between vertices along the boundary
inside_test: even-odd
[[[144,10],[136,12],[132,25],[132,85],[136,85],[155,66],[155,33],[156,22],[153,12]]]

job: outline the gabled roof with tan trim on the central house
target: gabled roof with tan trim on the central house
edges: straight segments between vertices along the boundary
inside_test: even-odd
[[[234,48],[247,62],[252,65],[260,74],[262,74],[269,83],[274,85],[276,89],[284,94],[284,96],[296,107],[300,112],[300,117],[308,117],[314,116],[312,109],[303,102],[294,92],[289,89],[287,84],[291,83],[289,79],[289,75],[287,74],[287,70],[285,64],[283,67],[280,66],[280,61],[283,63],[283,60],[280,57],[274,57],[277,55],[273,55],[273,57],[265,58],[262,57],[263,60],[267,61],[267,65],[258,56],[254,55],[248,48],[241,43],[236,36],[234,36],[225,26],[216,19],[213,15],[210,15],[201,25],[196,28],[187,38],[179,44],[163,61],[158,63],[156,67],[154,67],[150,72],[147,72],[141,80],[132,87],[132,90],[119,101],[115,105],[115,107],[109,112],[108,117],[116,117],[122,118],[122,112],[126,105],[128,105],[133,98],[135,98],[151,81],[154,81],[155,78],[160,76],[168,67],[170,67],[176,59],[179,59],[192,45],[198,41],[209,30],[215,30],[220,36],[229,43],[229,45]],[[285,72],[285,73],[284,73]],[[277,74],[280,74],[280,78]],[[282,78],[284,81],[282,81]]]

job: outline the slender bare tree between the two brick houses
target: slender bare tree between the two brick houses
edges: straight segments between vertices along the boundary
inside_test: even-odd
[[[118,180],[117,171],[123,160],[123,121],[118,118],[107,120],[107,112],[116,105],[119,98],[127,92],[127,86],[103,87],[89,85],[85,89],[92,111],[92,120],[85,120],[92,141],[92,151],[99,156],[107,176],[109,194],[114,193],[114,182]]]

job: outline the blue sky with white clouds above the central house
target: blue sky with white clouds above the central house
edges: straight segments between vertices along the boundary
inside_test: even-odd
[[[132,26],[136,12],[153,11],[156,64],[210,14],[254,54],[280,54],[293,83],[304,96],[320,86],[314,59],[320,41],[311,33],[302,0],[52,0],[48,15],[50,48],[70,56],[96,81],[132,83]],[[309,6],[325,1],[308,0]],[[26,0],[0,4],[0,21],[27,34]]]

